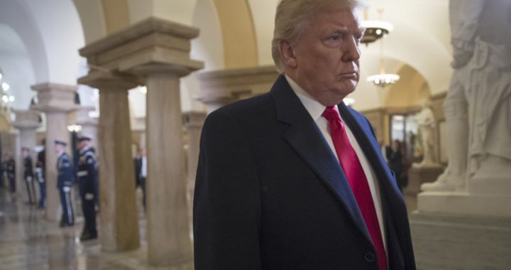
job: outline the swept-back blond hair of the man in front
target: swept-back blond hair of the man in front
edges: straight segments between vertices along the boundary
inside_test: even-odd
[[[340,4],[352,9],[365,6],[361,0],[281,0],[275,13],[275,30],[272,40],[273,62],[280,72],[284,70],[284,64],[280,57],[280,41],[292,43],[300,36],[303,26],[307,23],[310,14],[324,6]]]

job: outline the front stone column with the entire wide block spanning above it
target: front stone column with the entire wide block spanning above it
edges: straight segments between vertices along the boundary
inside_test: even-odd
[[[150,264],[180,264],[192,259],[180,77],[203,67],[202,62],[189,58],[190,40],[198,35],[197,28],[152,17],[80,50],[97,72],[139,76],[148,90],[146,239]]]

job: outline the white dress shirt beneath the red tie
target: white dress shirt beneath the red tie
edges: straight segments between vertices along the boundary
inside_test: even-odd
[[[302,104],[304,105],[305,109],[307,109],[307,112],[309,112],[312,119],[316,122],[317,126],[319,127],[319,130],[322,132],[324,139],[330,146],[330,150],[332,153],[334,153],[334,156],[337,158],[337,161],[339,161],[339,157],[337,156],[337,152],[335,150],[334,142],[331,139],[330,131],[329,131],[329,121],[326,120],[322,116],[324,110],[326,109],[326,106],[323,104],[317,102],[314,98],[312,98],[305,90],[300,87],[294,80],[292,80],[290,77],[285,75],[285,78],[289,85],[291,86],[291,89],[295,94],[298,96]],[[335,109],[337,109],[337,105],[335,106]],[[342,117],[341,117],[342,119]],[[342,119],[343,123],[344,119]],[[373,168],[370,166],[368,159],[366,158],[366,155],[364,155],[360,145],[358,144],[358,141],[356,141],[355,136],[353,136],[353,133],[351,132],[351,129],[347,124],[344,124],[344,128],[346,129],[346,133],[348,134],[348,140],[353,147],[353,150],[355,150],[355,153],[358,157],[358,160],[361,163],[361,166],[363,168],[364,173],[366,174],[366,178],[368,180],[368,185],[370,189],[371,196],[373,197],[373,202],[375,204],[375,210],[376,210],[376,216],[378,217],[378,223],[380,225],[380,231],[382,234],[383,239],[383,246],[385,247],[385,251],[387,250],[387,241],[386,241],[386,235],[385,235],[385,224],[383,223],[383,210],[381,206],[381,196],[380,196],[380,187],[378,185],[378,181],[376,178],[376,175],[373,171]],[[339,166],[340,166],[339,162]]]

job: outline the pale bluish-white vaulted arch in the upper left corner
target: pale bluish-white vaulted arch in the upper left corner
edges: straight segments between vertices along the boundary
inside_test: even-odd
[[[33,72],[23,85],[13,85],[13,89],[31,97],[33,92],[26,85],[40,82],[76,84],[81,59],[78,49],[84,45],[84,34],[72,1],[2,1],[0,23],[12,28],[19,36],[30,60],[31,68],[28,69]],[[26,107],[28,103],[21,109]]]

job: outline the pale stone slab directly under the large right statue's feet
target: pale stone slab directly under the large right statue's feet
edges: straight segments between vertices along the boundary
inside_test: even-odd
[[[511,195],[428,191],[417,196],[419,212],[511,218]]]

